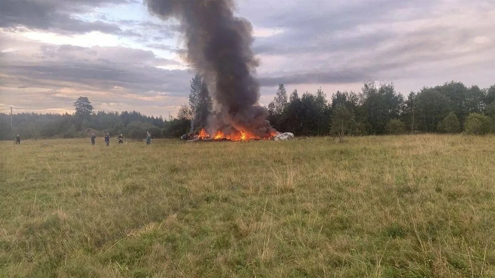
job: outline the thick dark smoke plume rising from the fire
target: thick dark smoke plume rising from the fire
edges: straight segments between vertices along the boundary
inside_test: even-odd
[[[166,20],[180,21],[187,46],[187,61],[208,85],[215,101],[208,132],[247,131],[263,137],[274,129],[268,112],[258,105],[259,85],[253,74],[258,66],[250,48],[251,24],[234,16],[227,0],[147,0],[148,10]]]

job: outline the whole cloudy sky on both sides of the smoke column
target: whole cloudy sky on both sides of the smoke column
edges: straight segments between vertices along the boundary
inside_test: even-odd
[[[495,84],[495,1],[237,1],[254,27],[261,104],[288,91],[401,93],[461,81]],[[175,114],[194,72],[177,22],[141,0],[0,0],[0,111],[97,110]]]

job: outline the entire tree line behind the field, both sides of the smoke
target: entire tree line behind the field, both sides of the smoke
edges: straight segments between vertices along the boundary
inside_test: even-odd
[[[153,138],[178,138],[204,127],[212,111],[212,101],[199,75],[191,80],[189,105],[182,105],[175,118],[163,119],[140,112],[94,111],[87,97],[74,102],[73,114],[0,113],[0,140],[22,138],[76,138],[91,133],[103,136],[123,134],[144,139],[146,131]],[[396,92],[393,84],[366,83],[361,92],[326,94],[297,90],[288,95],[280,84],[267,106],[268,120],[281,132],[297,136],[382,135],[401,133],[487,134],[495,129],[495,85],[467,88],[460,82],[423,87],[407,96]]]

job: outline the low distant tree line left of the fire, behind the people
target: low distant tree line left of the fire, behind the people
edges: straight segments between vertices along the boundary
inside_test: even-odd
[[[95,112],[89,99],[84,96],[79,97],[74,106],[76,112],[73,114],[13,114],[12,127],[10,115],[0,113],[0,140],[14,139],[17,134],[23,139],[38,139],[83,138],[92,133],[97,136],[123,134],[126,138],[145,139],[147,131],[153,138],[176,137],[183,132],[179,127],[180,131],[174,133],[178,120],[166,121],[161,116],[146,116],[136,111]]]

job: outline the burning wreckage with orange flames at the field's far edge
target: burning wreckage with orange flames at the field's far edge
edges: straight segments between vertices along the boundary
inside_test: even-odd
[[[221,131],[217,131],[213,137],[211,137],[204,129],[201,129],[198,133],[186,133],[181,136],[181,139],[188,141],[247,141],[247,140],[289,140],[294,138],[294,134],[290,132],[280,133],[273,132],[267,136],[259,137],[244,131],[240,131],[236,134],[225,135]]]

